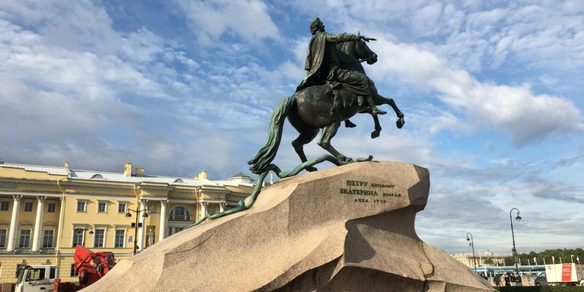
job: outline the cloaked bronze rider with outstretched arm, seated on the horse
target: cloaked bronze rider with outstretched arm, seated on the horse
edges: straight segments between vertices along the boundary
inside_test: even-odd
[[[323,82],[331,85],[331,88],[336,88],[340,85],[342,89],[346,89],[357,96],[363,96],[367,100],[367,104],[373,114],[385,114],[386,112],[377,109],[375,106],[369,89],[369,78],[361,72],[341,68],[336,49],[337,43],[375,39],[361,36],[360,34],[326,33],[325,26],[319,18],[315,18],[310,23],[310,32],[313,36],[308,45],[308,53],[304,65],[304,69],[308,71],[308,74],[300,82],[300,85],[296,88],[296,92],[312,85],[322,84]],[[335,110],[334,105],[333,110]],[[331,110],[331,114],[333,110]]]

